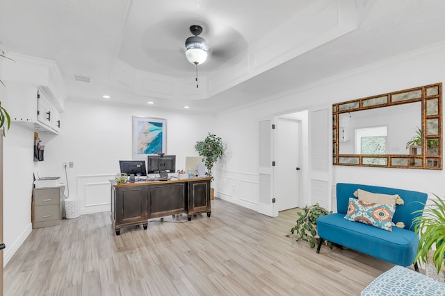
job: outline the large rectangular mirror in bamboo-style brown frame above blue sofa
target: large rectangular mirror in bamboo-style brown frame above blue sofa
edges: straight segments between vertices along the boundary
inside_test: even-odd
[[[332,105],[333,164],[442,170],[442,82]]]

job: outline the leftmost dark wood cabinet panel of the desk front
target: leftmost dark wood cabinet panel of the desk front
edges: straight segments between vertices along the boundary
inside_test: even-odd
[[[147,220],[147,187],[132,186],[118,189],[116,198],[116,225]]]

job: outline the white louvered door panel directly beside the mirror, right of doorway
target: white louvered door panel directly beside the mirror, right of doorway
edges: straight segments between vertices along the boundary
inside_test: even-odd
[[[332,108],[309,109],[310,204],[332,210]]]

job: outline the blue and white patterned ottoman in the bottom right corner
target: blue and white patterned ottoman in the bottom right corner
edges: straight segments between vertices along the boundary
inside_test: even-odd
[[[361,296],[444,296],[445,283],[396,265],[374,279]]]

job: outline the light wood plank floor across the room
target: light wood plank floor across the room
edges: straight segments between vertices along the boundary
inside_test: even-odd
[[[359,295],[393,265],[286,237],[296,211],[269,218],[224,200],[115,236],[110,214],[34,229],[4,270],[4,295]]]

